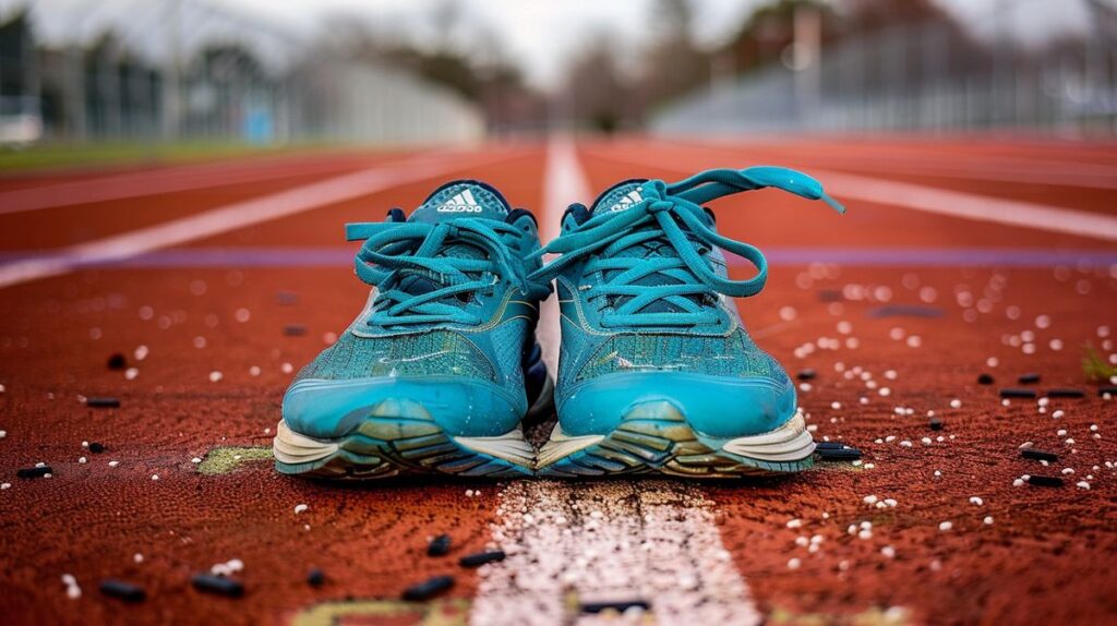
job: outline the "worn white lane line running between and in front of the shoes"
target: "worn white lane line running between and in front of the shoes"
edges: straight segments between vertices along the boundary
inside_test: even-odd
[[[593,199],[570,141],[556,138],[548,145],[544,185],[540,223],[546,241],[557,234],[570,202]],[[556,301],[547,299],[540,321],[552,373],[558,353]],[[760,624],[714,516],[714,502],[681,482],[507,484],[491,533],[508,556],[481,569],[470,622],[619,623],[571,613],[567,600],[574,594],[581,601],[646,600],[659,624]]]

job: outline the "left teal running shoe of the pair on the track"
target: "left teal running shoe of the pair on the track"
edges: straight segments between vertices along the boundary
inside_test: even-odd
[[[367,305],[303,368],[273,451],[285,474],[531,474],[528,414],[553,387],[535,341],[550,281],[535,218],[477,181],[442,185],[405,219],[346,225],[364,240]]]

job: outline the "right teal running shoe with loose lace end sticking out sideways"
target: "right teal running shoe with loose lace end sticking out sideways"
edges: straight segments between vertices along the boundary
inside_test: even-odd
[[[719,235],[703,208],[762,187],[844,212],[817,181],[782,167],[626,181],[592,209],[566,211],[543,251],[562,256],[533,275],[556,279],[562,311],[558,423],[537,473],[726,478],[811,465],[795,387],[748,337],[732,299],[764,287],[764,256]],[[728,279],[720,250],[756,276]]]

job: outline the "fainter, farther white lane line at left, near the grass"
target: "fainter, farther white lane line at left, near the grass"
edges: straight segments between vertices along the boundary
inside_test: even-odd
[[[0,192],[0,215],[264,182],[304,174],[326,174],[346,168],[355,167],[346,167],[343,163],[334,161],[287,163],[268,160],[262,163],[212,163],[180,166],[169,171],[114,174]]]

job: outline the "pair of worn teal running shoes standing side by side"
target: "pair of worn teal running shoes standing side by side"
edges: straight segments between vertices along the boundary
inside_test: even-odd
[[[718,234],[703,206],[762,187],[843,211],[804,174],[750,167],[623,181],[589,208],[572,204],[545,247],[531,212],[472,180],[442,185],[410,216],[392,209],[383,222],[347,224],[347,239],[364,241],[356,276],[373,289],[287,389],[276,468],[337,479],[809,468],[814,442],[795,386],[733,300],[764,287],[764,256]],[[755,276],[729,279],[723,250]],[[556,383],[536,339],[552,291]],[[525,425],[555,411],[536,451]]]

